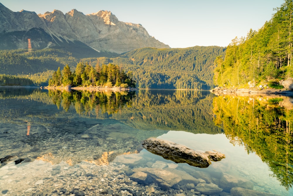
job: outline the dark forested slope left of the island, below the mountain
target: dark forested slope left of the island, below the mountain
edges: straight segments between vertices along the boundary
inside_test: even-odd
[[[79,59],[60,49],[42,49],[27,53],[27,50],[0,50],[0,73],[7,79],[0,85],[47,86],[49,78],[58,67],[69,65],[74,69]],[[24,78],[30,82],[23,82]],[[28,81],[28,80],[27,80]]]

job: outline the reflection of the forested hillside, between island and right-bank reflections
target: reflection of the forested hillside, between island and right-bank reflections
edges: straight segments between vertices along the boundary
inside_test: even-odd
[[[132,108],[124,108],[113,118],[143,130],[221,133],[212,122],[213,96],[208,91],[139,90]]]

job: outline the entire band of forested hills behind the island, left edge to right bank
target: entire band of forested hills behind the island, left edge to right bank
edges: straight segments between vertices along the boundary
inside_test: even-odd
[[[225,48],[195,46],[191,48],[141,48],[119,57],[76,58],[60,49],[0,51],[0,73],[28,78],[32,85],[46,86],[58,67],[75,70],[79,62],[89,65],[118,65],[132,71],[139,88],[205,89],[213,88],[214,58]]]

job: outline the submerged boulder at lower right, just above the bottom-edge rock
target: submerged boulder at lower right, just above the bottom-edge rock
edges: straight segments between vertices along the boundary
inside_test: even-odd
[[[253,189],[253,183],[241,177],[234,177],[228,174],[223,174],[220,180],[220,187],[225,192],[230,192],[231,188],[242,187],[245,189]]]

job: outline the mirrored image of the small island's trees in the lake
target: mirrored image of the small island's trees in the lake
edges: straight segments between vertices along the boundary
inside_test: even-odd
[[[49,90],[49,96],[57,108],[67,111],[71,104],[77,114],[90,115],[93,110],[101,113],[117,113],[125,105],[131,105],[135,92],[89,92]],[[96,111],[96,114],[99,111]]]

